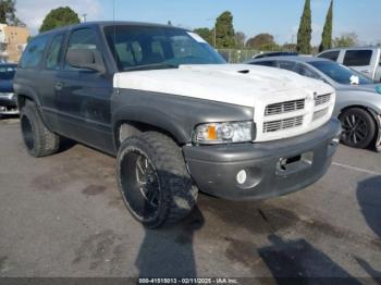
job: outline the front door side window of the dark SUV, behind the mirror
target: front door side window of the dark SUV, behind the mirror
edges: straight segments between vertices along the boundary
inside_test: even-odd
[[[97,50],[97,35],[95,32],[90,28],[82,28],[74,30],[69,39],[67,50],[73,49],[90,49],[90,50]],[[66,51],[67,53],[67,51]],[[70,66],[65,62],[65,70],[70,71],[77,71],[78,69],[75,69],[73,66]]]

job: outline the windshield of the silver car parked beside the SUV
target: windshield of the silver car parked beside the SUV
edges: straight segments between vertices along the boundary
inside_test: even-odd
[[[314,61],[312,66],[331,77],[336,83],[346,85],[373,84],[373,80],[359,72],[351,70],[333,61]]]

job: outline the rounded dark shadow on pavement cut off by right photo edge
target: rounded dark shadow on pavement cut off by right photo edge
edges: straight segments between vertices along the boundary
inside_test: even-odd
[[[358,183],[357,201],[369,227],[381,238],[381,176]]]

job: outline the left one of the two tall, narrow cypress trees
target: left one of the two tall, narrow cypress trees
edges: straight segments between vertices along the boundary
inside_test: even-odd
[[[310,54],[311,52],[311,1],[306,0],[303,15],[300,18],[299,30],[297,32],[297,51],[300,53]]]

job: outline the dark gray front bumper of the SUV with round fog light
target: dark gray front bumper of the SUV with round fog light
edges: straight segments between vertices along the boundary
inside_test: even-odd
[[[230,199],[265,199],[299,190],[318,181],[331,164],[341,125],[335,119],[308,134],[257,144],[185,146],[198,188]],[[236,175],[245,170],[246,182]]]

